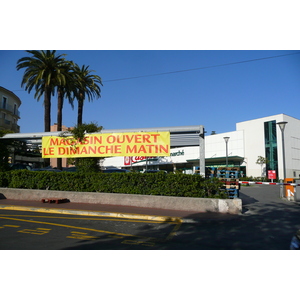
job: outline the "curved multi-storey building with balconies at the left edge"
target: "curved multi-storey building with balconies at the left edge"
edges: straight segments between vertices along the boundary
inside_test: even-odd
[[[21,100],[13,92],[0,86],[0,129],[20,132],[18,120]]]

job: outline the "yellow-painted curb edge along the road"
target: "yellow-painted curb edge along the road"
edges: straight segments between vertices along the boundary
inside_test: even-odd
[[[110,218],[123,218],[123,219],[136,219],[147,220],[156,222],[174,222],[174,223],[195,223],[192,219],[183,219],[179,217],[167,216],[151,216],[142,214],[131,213],[115,213],[104,211],[89,211],[89,210],[76,210],[76,209],[54,209],[54,208],[40,208],[33,206],[17,206],[17,205],[0,205],[0,210],[16,210],[16,211],[30,211],[51,214],[65,214],[65,215],[80,215],[89,217],[110,217]]]

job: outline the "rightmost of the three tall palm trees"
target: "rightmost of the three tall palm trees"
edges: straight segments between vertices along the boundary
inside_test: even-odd
[[[89,70],[89,66],[83,65],[81,68],[77,64],[74,66],[74,79],[76,85],[74,94],[78,101],[77,126],[82,125],[84,100],[87,98],[91,101],[93,100],[93,97],[101,97],[99,85],[103,86],[102,80],[98,75],[90,74],[91,72],[93,71]]]

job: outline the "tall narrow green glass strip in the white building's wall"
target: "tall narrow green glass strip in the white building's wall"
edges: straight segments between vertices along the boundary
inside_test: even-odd
[[[275,170],[278,175],[278,155],[277,155],[277,134],[276,121],[264,123],[265,129],[265,151],[267,162],[267,170]]]

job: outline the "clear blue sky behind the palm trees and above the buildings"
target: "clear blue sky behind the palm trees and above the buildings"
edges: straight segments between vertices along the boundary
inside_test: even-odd
[[[58,50],[79,65],[89,65],[103,81],[101,98],[86,102],[84,122],[105,129],[204,125],[207,134],[235,130],[236,122],[284,113],[300,119],[300,54],[298,51],[238,50]],[[43,99],[21,88],[16,70],[22,50],[0,50],[0,85],[22,101],[21,132],[44,130]],[[211,67],[211,68],[210,68]],[[181,70],[192,71],[153,75]],[[56,122],[56,96],[51,123]],[[63,124],[74,126],[77,106],[65,101]]]

